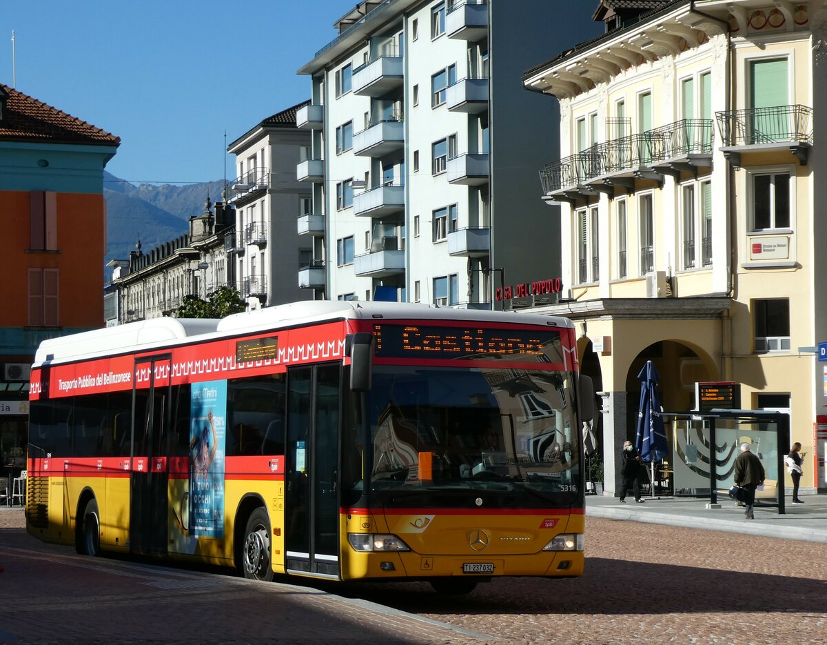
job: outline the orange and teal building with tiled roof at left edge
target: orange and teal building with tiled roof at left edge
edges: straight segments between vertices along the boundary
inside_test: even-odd
[[[42,340],[103,327],[103,170],[121,140],[0,84],[0,479],[26,469]]]

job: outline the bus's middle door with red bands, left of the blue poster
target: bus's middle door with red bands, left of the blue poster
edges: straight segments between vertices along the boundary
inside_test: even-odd
[[[167,550],[167,454],[170,425],[171,357],[136,359],[132,373],[129,549]],[[147,387],[148,386],[148,387]]]

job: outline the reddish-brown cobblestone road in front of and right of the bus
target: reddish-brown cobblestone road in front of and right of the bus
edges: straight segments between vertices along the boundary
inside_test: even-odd
[[[0,512],[0,527],[8,521],[3,517],[7,514]],[[586,517],[586,532],[586,573],[581,578],[496,580],[460,597],[439,596],[421,584],[317,586],[487,634],[489,643],[740,644],[827,639],[824,544],[599,517]],[[0,587],[5,586],[3,575]],[[255,593],[266,592],[260,585]],[[274,595],[274,606],[279,599]],[[331,602],[319,609],[339,611],[340,607]],[[222,612],[228,625],[234,624],[232,611]],[[159,615],[170,619],[168,614]],[[312,630],[321,628],[319,615],[295,619]],[[367,621],[366,633],[379,634],[370,631],[376,627],[367,614],[351,619],[357,624]],[[404,624],[409,623],[399,626]],[[328,630],[327,638],[318,642],[342,643],[352,636],[349,632],[331,638],[333,633]],[[234,635],[234,628],[228,627],[227,642]],[[240,642],[267,642],[251,640],[249,631],[239,636]],[[417,636],[430,643],[480,642],[444,632]],[[399,637],[399,642],[423,642],[411,633]]]

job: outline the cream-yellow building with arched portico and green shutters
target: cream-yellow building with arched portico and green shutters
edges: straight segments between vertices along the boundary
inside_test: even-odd
[[[603,36],[523,74],[560,106],[560,149],[538,170],[541,200],[561,205],[566,298],[547,311],[576,320],[604,393],[609,491],[647,360],[666,410],[696,409],[698,382],[736,383],[740,407],[790,412],[791,439],[815,448],[825,18],[824,2],[603,0]],[[823,487],[812,470],[806,488]]]

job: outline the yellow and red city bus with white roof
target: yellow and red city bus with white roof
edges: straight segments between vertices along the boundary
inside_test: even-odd
[[[583,570],[571,321],[299,302],[46,340],[26,524],[47,542],[271,580]]]

